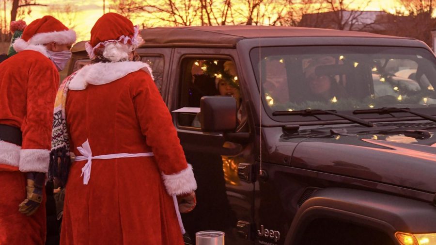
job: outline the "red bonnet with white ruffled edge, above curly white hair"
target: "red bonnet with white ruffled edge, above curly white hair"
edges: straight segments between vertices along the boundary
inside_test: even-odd
[[[104,49],[110,43],[131,45],[136,49],[143,43],[138,26],[125,16],[116,13],[107,13],[95,22],[91,30],[91,40],[85,44],[86,51],[92,59],[96,49]]]

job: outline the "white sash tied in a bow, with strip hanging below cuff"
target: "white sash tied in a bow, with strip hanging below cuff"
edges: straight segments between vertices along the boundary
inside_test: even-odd
[[[91,147],[89,146],[88,140],[86,140],[81,147],[77,147],[78,151],[81,156],[76,157],[76,161],[85,161],[88,160],[88,162],[85,164],[85,166],[82,167],[82,174],[80,177],[83,176],[83,184],[87,185],[89,179],[91,178],[91,166],[93,164],[93,159],[114,159],[114,158],[127,158],[127,157],[151,157],[154,156],[153,152],[144,152],[144,153],[116,153],[116,154],[108,154],[108,155],[100,155],[100,156],[93,156],[93,152],[91,151]],[[177,198],[175,195],[172,196],[172,200],[174,202],[174,208],[177,214],[177,220],[179,221],[179,226],[182,231],[182,234],[185,234],[185,228],[183,227],[182,218],[180,216],[179,211],[179,205],[177,203]]]

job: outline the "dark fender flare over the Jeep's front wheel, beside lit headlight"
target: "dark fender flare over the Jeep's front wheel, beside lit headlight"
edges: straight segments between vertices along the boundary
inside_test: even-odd
[[[436,233],[436,207],[400,196],[356,189],[326,188],[315,192],[296,212],[286,235],[295,244],[311,221],[332,218],[379,229],[395,241],[395,232]]]

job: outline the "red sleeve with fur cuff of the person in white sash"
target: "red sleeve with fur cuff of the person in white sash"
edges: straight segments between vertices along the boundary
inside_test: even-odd
[[[190,193],[197,188],[192,167],[187,164],[177,131],[151,76],[138,72],[131,83],[136,115],[146,143],[155,154],[165,187],[170,195]]]

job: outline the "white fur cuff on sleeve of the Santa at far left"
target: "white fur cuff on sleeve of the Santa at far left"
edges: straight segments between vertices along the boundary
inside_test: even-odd
[[[20,165],[21,172],[48,172],[50,151],[45,149],[21,149]]]

